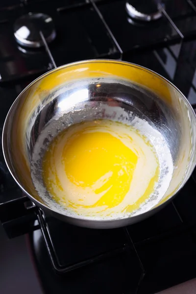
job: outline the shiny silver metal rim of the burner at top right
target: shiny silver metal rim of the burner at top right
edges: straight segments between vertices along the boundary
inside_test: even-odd
[[[139,11],[131,3],[129,3],[129,1],[127,1],[125,4],[125,8],[126,8],[126,12],[128,13],[130,17],[139,21],[151,22],[151,21],[158,20],[162,17],[162,11],[159,7],[157,7],[156,12],[147,14],[147,13]]]

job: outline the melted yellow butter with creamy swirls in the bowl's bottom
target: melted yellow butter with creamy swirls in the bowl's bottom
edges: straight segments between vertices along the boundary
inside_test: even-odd
[[[157,155],[145,136],[123,123],[78,123],[60,133],[43,160],[50,195],[76,214],[133,212],[154,192]]]

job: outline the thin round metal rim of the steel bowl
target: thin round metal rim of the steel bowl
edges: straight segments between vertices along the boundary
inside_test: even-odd
[[[6,144],[6,140],[5,140],[5,132],[6,132],[6,125],[8,123],[8,120],[9,120],[9,116],[12,112],[12,109],[13,107],[15,106],[15,104],[18,102],[18,100],[21,98],[21,96],[25,93],[26,90],[28,90],[33,84],[35,84],[36,82],[38,82],[39,80],[43,79],[44,77],[46,77],[47,75],[49,75],[50,73],[54,73],[54,72],[57,72],[61,69],[64,69],[64,68],[68,68],[68,67],[72,67],[74,65],[79,65],[79,64],[85,64],[85,63],[94,63],[94,62],[109,62],[109,63],[116,63],[116,64],[124,64],[124,65],[128,65],[128,66],[131,66],[131,67],[134,67],[134,68],[138,68],[138,69],[141,69],[141,70],[144,70],[152,75],[155,75],[156,77],[160,78],[161,80],[167,82],[184,100],[185,104],[187,104],[188,108],[190,111],[192,111],[193,115],[194,115],[194,118],[195,118],[195,121],[196,121],[196,113],[192,107],[192,105],[190,104],[190,102],[188,101],[188,99],[184,96],[184,94],[175,86],[172,84],[171,81],[169,81],[167,78],[163,77],[161,74],[159,73],[156,73],[152,70],[149,70],[148,68],[144,67],[144,66],[141,66],[141,65],[138,65],[138,64],[135,64],[135,63],[131,63],[131,62],[128,62],[128,61],[122,61],[122,60],[116,60],[116,59],[85,59],[85,60],[80,60],[80,61],[75,61],[75,62],[71,62],[71,63],[68,63],[68,64],[65,64],[65,65],[61,65],[55,69],[52,69],[42,75],[40,75],[39,77],[37,77],[35,80],[33,80],[30,84],[28,84],[25,89],[17,96],[17,98],[14,100],[14,102],[12,103],[7,115],[6,115],[6,118],[5,118],[5,121],[4,121],[4,124],[3,124],[3,129],[2,129],[2,139],[1,139],[1,143],[2,143],[2,152],[3,152],[3,157],[4,157],[4,160],[5,160],[5,163],[6,163],[6,166],[10,172],[10,174],[12,175],[12,177],[14,178],[15,182],[17,183],[17,185],[20,187],[20,189],[24,192],[24,194],[26,196],[28,196],[33,203],[35,203],[38,207],[40,208],[43,208],[44,210],[48,211],[50,214],[57,214],[59,217],[61,216],[62,218],[67,218],[67,219],[75,219],[75,220],[80,220],[80,221],[84,221],[84,222],[88,222],[88,221],[91,221],[91,222],[104,222],[104,223],[108,223],[108,222],[114,222],[114,221],[124,221],[124,220],[128,220],[128,219],[131,219],[131,220],[134,220],[135,219],[135,222],[137,222],[137,218],[138,217],[141,217],[141,216],[144,216],[145,214],[147,214],[149,211],[150,212],[154,212],[156,210],[159,210],[161,209],[162,207],[166,206],[166,204],[168,204],[172,198],[174,196],[176,196],[176,194],[184,187],[184,185],[187,183],[188,179],[190,178],[193,170],[195,169],[196,167],[196,163],[193,165],[192,169],[190,170],[190,175],[185,179],[183,185],[178,188],[174,194],[169,197],[167,200],[165,200],[163,203],[161,204],[158,204],[156,206],[154,206],[153,208],[151,208],[149,211],[145,211],[143,213],[140,213],[138,215],[135,215],[135,216],[127,216],[125,218],[119,218],[119,219],[100,219],[100,220],[95,220],[91,217],[81,217],[81,216],[68,216],[66,214],[62,214],[61,212],[59,212],[57,209],[54,210],[52,208],[50,208],[49,206],[47,206],[45,203],[42,203],[40,202],[39,200],[37,200],[34,196],[30,195],[26,190],[25,188],[23,188],[23,186],[19,183],[19,181],[16,179],[16,177],[14,176],[13,172],[11,171],[11,168],[9,167],[9,164],[7,162],[8,160],[8,156],[6,154],[6,151],[5,151],[5,144]],[[134,221],[133,221],[134,222]]]

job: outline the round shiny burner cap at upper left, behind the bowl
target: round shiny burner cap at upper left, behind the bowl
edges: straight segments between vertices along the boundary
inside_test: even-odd
[[[56,37],[52,18],[47,14],[29,12],[17,19],[14,24],[16,41],[25,47],[37,48],[44,45],[40,31],[42,31],[47,43]]]

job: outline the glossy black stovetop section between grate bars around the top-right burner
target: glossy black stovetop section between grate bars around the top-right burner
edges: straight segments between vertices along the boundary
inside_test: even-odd
[[[180,39],[177,31],[165,16],[150,23],[135,21],[127,15],[125,2],[113,1],[112,4],[98,3],[100,12],[120,47],[123,49],[123,52],[126,53],[139,47],[144,48]]]

